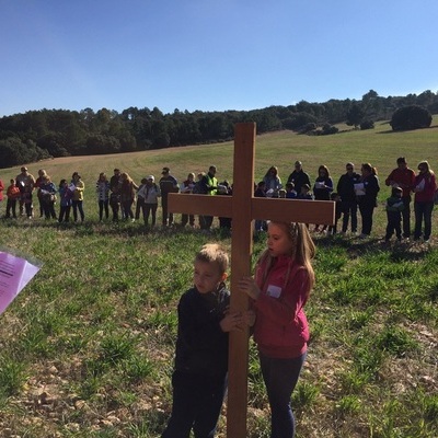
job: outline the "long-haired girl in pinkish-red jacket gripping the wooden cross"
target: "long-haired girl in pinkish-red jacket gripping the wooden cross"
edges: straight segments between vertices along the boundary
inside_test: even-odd
[[[303,308],[314,285],[314,254],[304,223],[269,222],[267,249],[257,262],[255,278],[239,281],[256,314],[254,341],[270,405],[270,436],[275,438],[295,435],[290,396],[309,341]]]

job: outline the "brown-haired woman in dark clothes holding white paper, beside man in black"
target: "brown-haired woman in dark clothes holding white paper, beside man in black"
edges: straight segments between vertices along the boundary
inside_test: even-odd
[[[370,163],[364,163],[360,171],[362,173],[359,183],[360,187],[356,191],[359,211],[362,218],[362,229],[359,238],[366,239],[371,234],[372,215],[377,207],[377,195],[380,191],[380,185],[377,170]]]

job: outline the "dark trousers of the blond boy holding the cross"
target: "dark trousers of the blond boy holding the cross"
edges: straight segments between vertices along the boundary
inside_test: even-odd
[[[214,438],[227,389],[227,377],[172,376],[172,414],[162,438]]]

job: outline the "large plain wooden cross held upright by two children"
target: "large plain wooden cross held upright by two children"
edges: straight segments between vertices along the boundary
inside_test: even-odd
[[[232,196],[169,194],[169,211],[232,218],[231,311],[246,311],[238,281],[251,275],[254,219],[334,223],[333,201],[254,198],[255,123],[237,124]],[[227,437],[246,438],[249,332],[230,333]]]

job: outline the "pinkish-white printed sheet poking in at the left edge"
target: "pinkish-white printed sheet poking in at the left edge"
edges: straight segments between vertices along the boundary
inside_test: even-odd
[[[0,314],[39,270],[25,258],[0,251]]]

